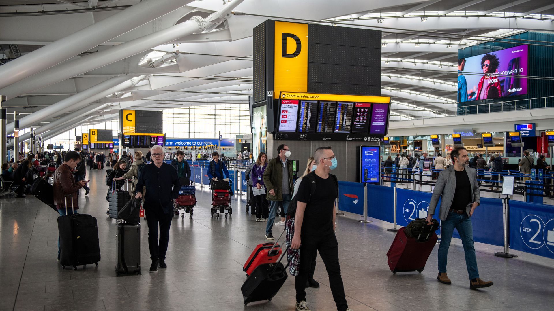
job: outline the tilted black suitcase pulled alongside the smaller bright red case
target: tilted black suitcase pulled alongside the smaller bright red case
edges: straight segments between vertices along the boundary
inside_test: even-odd
[[[260,300],[271,301],[271,298],[279,292],[279,289],[281,289],[281,286],[286,281],[286,267],[289,266],[288,264],[283,266],[281,260],[286,256],[288,250],[289,248],[287,247],[279,262],[259,265],[244,281],[243,286],[240,287],[244,298],[244,305]]]

